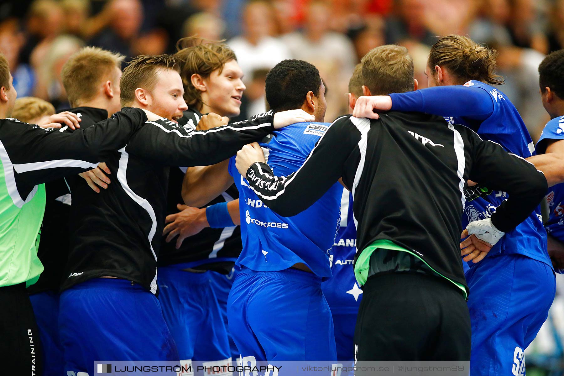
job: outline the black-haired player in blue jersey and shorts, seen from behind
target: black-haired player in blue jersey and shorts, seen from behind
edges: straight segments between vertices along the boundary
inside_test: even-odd
[[[266,78],[266,98],[272,109],[301,108],[316,122],[296,123],[260,143],[268,163],[280,174],[299,169],[329,123],[325,87],[319,71],[301,60],[284,60]],[[321,281],[331,277],[329,250],[337,231],[342,186],[335,184],[319,201],[291,218],[275,214],[237,172],[235,157],[200,171],[192,187],[183,190],[187,205],[235,182],[239,189],[243,251],[227,302],[229,330],[243,356],[257,361],[337,359],[331,311]],[[213,184],[208,184],[213,180]],[[186,193],[186,194],[184,194]],[[205,201],[205,200],[204,200]],[[235,221],[234,221],[235,222]]]

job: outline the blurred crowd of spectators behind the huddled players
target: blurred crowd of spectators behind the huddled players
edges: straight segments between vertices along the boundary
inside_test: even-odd
[[[61,67],[82,46],[130,58],[175,52],[179,38],[197,34],[225,39],[235,51],[245,74],[241,117],[265,109],[268,70],[294,58],[319,68],[328,89],[325,119],[332,121],[347,112],[347,84],[366,52],[387,43],[406,46],[423,88],[430,46],[450,33],[466,34],[499,51],[499,73],[505,77],[500,90],[536,140],[549,120],[540,101],[537,67],[545,54],[564,47],[564,0],[0,2],[0,51],[8,59],[18,96],[46,99],[58,110],[69,107]],[[564,332],[564,302],[558,297],[553,313],[532,347],[539,354],[553,354],[552,360],[561,353],[562,361],[562,338],[554,335]]]

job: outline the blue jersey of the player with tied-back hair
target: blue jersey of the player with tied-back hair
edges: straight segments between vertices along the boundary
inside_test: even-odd
[[[447,118],[450,123],[458,123],[473,129],[484,140],[494,141],[505,148],[506,151],[527,158],[534,152],[534,144],[525,123],[519,116],[517,109],[506,95],[486,83],[468,81],[464,84],[468,90],[484,90],[493,101],[493,113],[486,120],[472,120],[465,117]],[[479,183],[479,182],[478,182]],[[462,214],[462,228],[469,222],[486,219],[495,212],[508,194],[503,191],[494,191],[485,199],[476,198],[466,202]],[[547,253],[547,236],[543,228],[540,207],[531,213],[525,222],[519,224],[513,231],[505,234],[488,256],[496,254],[522,254],[532,259],[539,260],[552,266]],[[470,267],[477,264],[469,263]]]

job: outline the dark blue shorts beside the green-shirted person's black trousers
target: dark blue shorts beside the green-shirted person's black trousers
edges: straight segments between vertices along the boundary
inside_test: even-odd
[[[43,345],[43,376],[59,376],[64,373],[63,347],[59,340],[59,294],[54,291],[29,295]]]

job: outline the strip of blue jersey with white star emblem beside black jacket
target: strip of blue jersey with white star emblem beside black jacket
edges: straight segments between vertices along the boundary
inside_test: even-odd
[[[358,312],[362,290],[356,282],[352,266],[355,253],[356,227],[352,216],[352,194],[343,189],[341,225],[329,255],[333,277],[321,284],[332,313]]]

